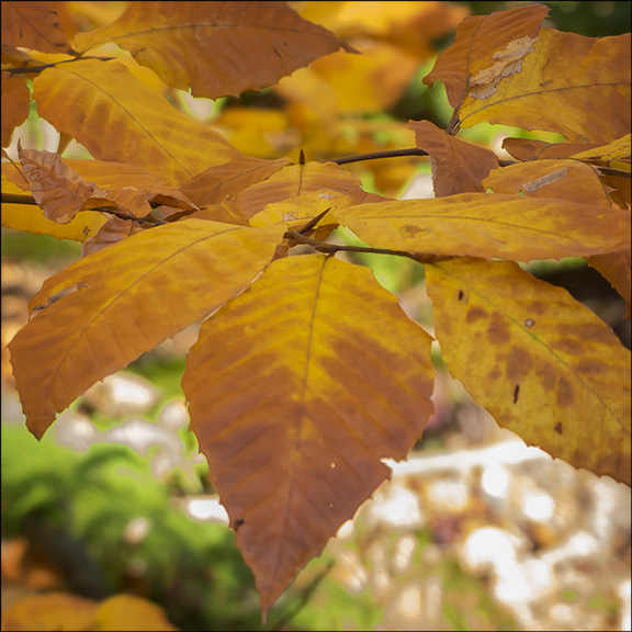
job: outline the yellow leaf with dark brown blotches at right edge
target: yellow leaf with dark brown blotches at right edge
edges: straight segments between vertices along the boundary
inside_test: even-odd
[[[630,485],[630,351],[606,323],[511,261],[426,278],[443,359],[474,399],[528,443]]]

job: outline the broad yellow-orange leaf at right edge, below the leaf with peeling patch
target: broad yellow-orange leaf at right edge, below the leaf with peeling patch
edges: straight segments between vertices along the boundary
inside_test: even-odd
[[[630,44],[629,33],[599,38],[542,29],[510,80],[494,92],[467,92],[461,126],[500,123],[611,143],[630,133]]]

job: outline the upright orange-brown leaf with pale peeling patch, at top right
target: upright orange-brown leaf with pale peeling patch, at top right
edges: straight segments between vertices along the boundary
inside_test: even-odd
[[[467,91],[494,89],[503,77],[520,68],[548,13],[543,4],[529,4],[465,18],[456,27],[454,43],[439,55],[424,83],[432,88],[435,81],[442,81],[454,109]]]

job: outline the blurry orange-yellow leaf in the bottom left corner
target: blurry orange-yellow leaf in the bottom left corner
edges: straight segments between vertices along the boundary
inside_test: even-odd
[[[76,595],[65,592],[33,595],[2,610],[2,630],[5,632],[91,630],[97,608],[98,605],[92,599]]]

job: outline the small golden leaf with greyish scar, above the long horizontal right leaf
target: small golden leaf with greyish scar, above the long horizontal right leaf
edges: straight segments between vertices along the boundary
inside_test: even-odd
[[[560,198],[567,202],[612,206],[599,173],[578,160],[534,160],[510,165],[492,171],[483,184],[496,193],[522,192],[529,198]]]

